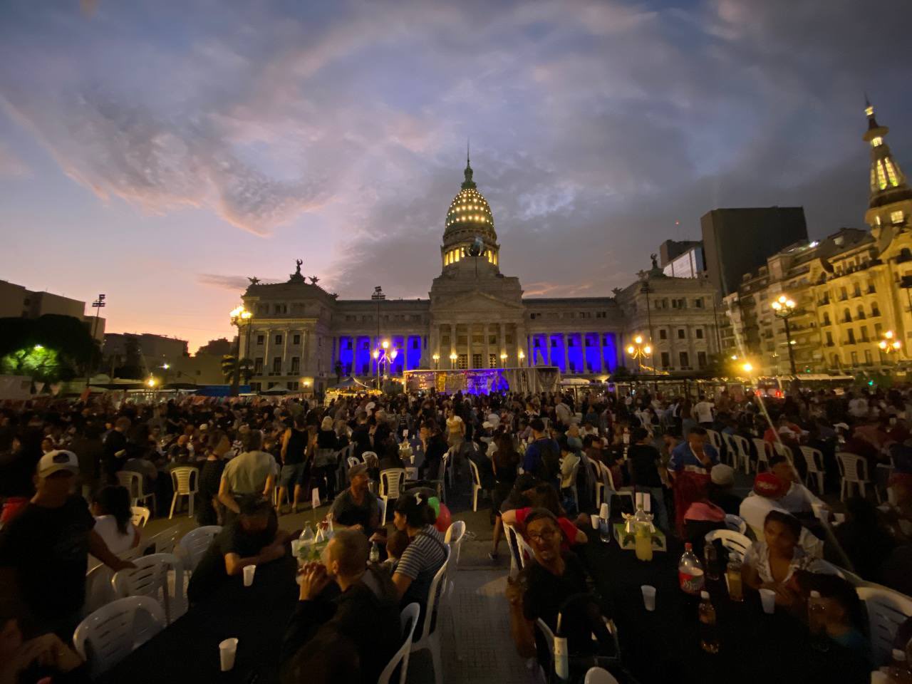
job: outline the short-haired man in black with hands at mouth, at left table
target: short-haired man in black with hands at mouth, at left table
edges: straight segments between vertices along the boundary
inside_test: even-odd
[[[368,553],[363,534],[340,530],[322,563],[301,570],[282,648],[284,684],[374,684],[399,649],[399,596],[389,575],[368,565]],[[326,592],[331,583],[340,592],[334,598]]]

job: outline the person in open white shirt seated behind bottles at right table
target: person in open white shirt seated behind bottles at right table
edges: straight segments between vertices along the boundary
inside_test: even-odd
[[[814,558],[805,554],[798,544],[801,529],[801,523],[790,513],[767,513],[760,541],[751,544],[744,554],[741,566],[744,585],[753,589],[772,589],[780,606],[798,604],[801,589],[795,573],[814,565]]]

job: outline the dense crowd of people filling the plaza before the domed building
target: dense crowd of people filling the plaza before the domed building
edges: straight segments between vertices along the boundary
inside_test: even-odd
[[[171,471],[185,466],[198,469],[198,523],[223,526],[192,575],[194,605],[246,565],[285,556],[299,532],[282,529],[287,513],[331,503],[333,540],[321,562],[301,571],[300,605],[283,647],[287,681],[305,672],[324,673],[315,681],[376,680],[398,639],[366,640],[365,633],[398,635],[399,610],[425,605],[446,559],[429,502],[442,481],[460,492],[477,482],[490,492],[493,563],[505,525],[534,552],[534,563],[506,592],[513,639],[529,658],[543,648],[534,620],[554,628],[565,601],[581,595],[588,598],[574,608],[570,647],[594,654],[616,648],[601,619],[606,606],[574,554],[597,534],[589,522],[598,513],[599,485],[605,493],[647,494],[658,529],[700,554],[707,532],[724,528],[726,515],[739,516],[754,540],[743,559],[745,586],[772,588],[777,603],[796,614],[817,585],[844,618],[857,612],[838,582],[808,580],[820,573],[821,559],[912,593],[912,394],[798,390],[761,400],[723,390],[695,399],[642,386],[621,397],[372,394],[326,404],[102,398],[0,409],[0,629],[16,637],[0,648],[19,654],[7,660],[18,674],[57,668],[78,680],[84,669],[67,644],[83,617],[87,567],[129,568],[119,554],[140,544],[119,473],[139,476],[142,493],[154,494],[152,515],[161,516],[171,506]],[[748,440],[750,476],[741,475],[733,442],[724,439],[720,450],[714,434]],[[776,447],[759,453],[754,440]],[[840,489],[836,453],[863,459],[874,481],[868,496],[824,502],[804,484],[816,484],[806,478],[804,446],[822,453],[831,493]],[[349,455],[357,465],[349,465]],[[406,467],[415,469],[417,489],[399,496],[388,529],[379,521],[378,475]],[[872,501],[875,492],[888,492],[888,502]],[[617,515],[627,497],[610,498]],[[822,523],[834,508],[845,519]],[[371,545],[380,547],[381,564],[368,563]],[[372,627],[365,629],[365,620]],[[861,630],[845,618],[834,621],[831,636],[864,650]],[[67,655],[50,664],[39,658],[42,667],[22,655],[47,648]]]

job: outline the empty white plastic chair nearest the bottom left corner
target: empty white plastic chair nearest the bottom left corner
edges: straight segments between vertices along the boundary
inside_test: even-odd
[[[117,665],[120,660],[161,632],[165,614],[149,596],[130,596],[98,608],[73,633],[73,646],[88,662],[92,676]]]

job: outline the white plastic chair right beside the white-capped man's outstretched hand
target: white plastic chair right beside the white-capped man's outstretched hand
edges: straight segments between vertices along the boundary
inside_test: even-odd
[[[165,610],[169,625],[187,612],[183,565],[174,554],[143,555],[133,561],[135,570],[120,570],[111,578],[117,596],[149,596]]]

